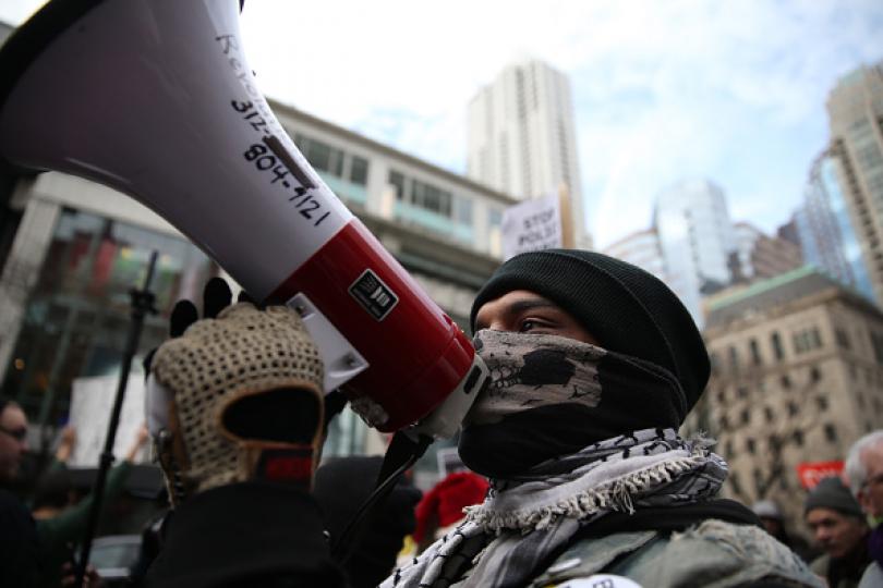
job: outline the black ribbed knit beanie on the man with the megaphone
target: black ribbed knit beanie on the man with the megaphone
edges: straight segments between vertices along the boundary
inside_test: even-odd
[[[528,290],[560,306],[604,348],[652,362],[680,382],[689,411],[709,380],[709,353],[690,313],[662,280],[593,252],[545,249],[503,264],[472,303]]]

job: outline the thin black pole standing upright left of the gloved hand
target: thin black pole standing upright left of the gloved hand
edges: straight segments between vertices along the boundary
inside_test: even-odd
[[[138,351],[138,340],[144,327],[144,317],[147,313],[156,313],[154,308],[154,294],[149,291],[150,281],[154,279],[154,268],[156,267],[156,252],[150,253],[150,260],[147,265],[147,275],[144,278],[144,286],[141,290],[132,289],[129,295],[132,297],[132,321],[129,324],[129,339],[125,342],[122,365],[120,366],[120,382],[117,385],[117,397],[113,401],[113,411],[110,413],[110,424],[107,427],[107,438],[105,438],[105,450],[101,452],[101,460],[98,465],[98,474],[95,478],[95,486],[92,489],[92,509],[89,510],[88,525],[83,537],[83,548],[80,550],[80,562],[76,566],[76,588],[83,587],[83,578],[86,575],[86,566],[89,563],[89,552],[92,551],[92,538],[95,528],[98,526],[98,518],[101,514],[101,500],[105,494],[105,483],[110,464],[113,463],[113,443],[117,439],[117,426],[120,424],[120,411],[122,411],[123,399],[125,397],[125,385],[129,383],[129,370],[132,368],[132,359]]]

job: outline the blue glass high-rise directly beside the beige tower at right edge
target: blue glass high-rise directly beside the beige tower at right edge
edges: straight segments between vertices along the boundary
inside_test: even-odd
[[[810,168],[803,204],[794,216],[798,242],[807,264],[873,301],[861,245],[849,219],[835,166],[835,160],[825,151]]]

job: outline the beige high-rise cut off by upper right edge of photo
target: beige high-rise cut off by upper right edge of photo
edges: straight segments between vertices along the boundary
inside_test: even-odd
[[[844,76],[827,113],[830,154],[874,296],[883,301],[883,62]]]

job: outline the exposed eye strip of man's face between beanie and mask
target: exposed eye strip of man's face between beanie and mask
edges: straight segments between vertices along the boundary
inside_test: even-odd
[[[554,303],[527,290],[513,290],[485,303],[475,328],[515,333],[554,334],[598,345],[598,341]]]

